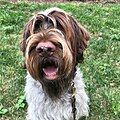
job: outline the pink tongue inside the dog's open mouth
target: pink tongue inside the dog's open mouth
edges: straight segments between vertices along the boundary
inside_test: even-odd
[[[48,66],[46,68],[43,68],[44,74],[45,74],[45,78],[47,80],[55,80],[57,79],[58,75],[58,68],[54,67],[54,66]]]

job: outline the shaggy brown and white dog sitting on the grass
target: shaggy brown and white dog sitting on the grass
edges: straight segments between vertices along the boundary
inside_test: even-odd
[[[79,64],[89,39],[89,32],[59,8],[39,12],[26,23],[20,47],[27,69],[27,120],[88,116],[89,98]]]

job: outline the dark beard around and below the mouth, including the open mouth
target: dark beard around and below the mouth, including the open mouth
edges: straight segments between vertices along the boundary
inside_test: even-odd
[[[34,61],[34,66],[37,67],[35,68],[37,70],[37,80],[42,84],[45,94],[52,100],[60,98],[61,95],[69,89],[72,71],[68,75],[63,72],[64,62],[62,59],[40,57],[38,60]],[[47,69],[50,69],[50,71]]]

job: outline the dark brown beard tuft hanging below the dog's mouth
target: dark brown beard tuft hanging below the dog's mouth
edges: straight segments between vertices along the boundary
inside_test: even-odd
[[[56,100],[59,99],[66,91],[68,91],[70,80],[70,76],[67,78],[65,76],[61,76],[55,81],[46,81],[46,79],[43,79],[43,89],[52,100]]]

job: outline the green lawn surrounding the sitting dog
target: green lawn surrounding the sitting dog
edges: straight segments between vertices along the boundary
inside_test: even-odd
[[[19,41],[32,13],[60,7],[90,33],[91,42],[80,65],[90,97],[88,120],[120,119],[120,5],[45,4],[0,1],[0,120],[24,120],[26,72]]]

